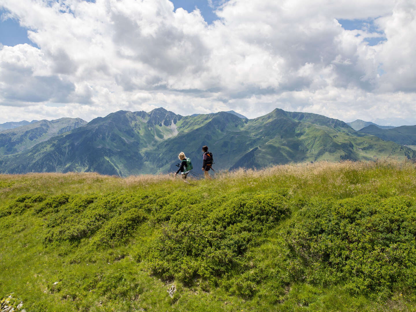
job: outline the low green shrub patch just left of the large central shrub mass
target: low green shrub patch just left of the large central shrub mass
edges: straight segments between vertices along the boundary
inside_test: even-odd
[[[130,235],[147,218],[144,210],[137,208],[144,205],[135,195],[111,193],[54,198],[52,203],[63,203],[64,206],[53,211],[48,208],[48,230],[43,244],[49,246],[67,241],[78,245],[83,238],[92,237],[100,229],[93,245],[118,244],[119,240]]]

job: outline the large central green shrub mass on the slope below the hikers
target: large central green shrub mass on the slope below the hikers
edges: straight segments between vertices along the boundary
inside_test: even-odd
[[[151,272],[191,284],[199,276],[216,280],[227,272],[243,270],[248,248],[290,213],[285,196],[263,192],[211,205],[188,202],[156,238],[149,255]]]

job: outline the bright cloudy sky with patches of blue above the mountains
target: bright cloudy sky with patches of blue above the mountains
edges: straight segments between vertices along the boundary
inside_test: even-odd
[[[163,106],[416,120],[414,0],[0,0],[0,123]]]

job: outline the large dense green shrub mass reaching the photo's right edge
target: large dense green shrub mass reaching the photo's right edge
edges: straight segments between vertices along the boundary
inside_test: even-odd
[[[282,231],[292,277],[386,299],[413,292],[416,207],[405,196],[315,200]]]

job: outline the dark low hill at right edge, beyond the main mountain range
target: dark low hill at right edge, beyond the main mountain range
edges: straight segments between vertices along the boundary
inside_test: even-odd
[[[397,144],[416,145],[416,126],[400,126],[394,129],[379,129],[375,126],[367,126],[359,132],[372,134],[385,141],[393,141]]]

